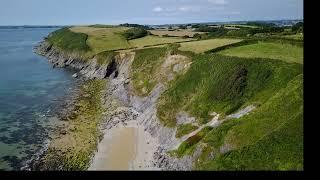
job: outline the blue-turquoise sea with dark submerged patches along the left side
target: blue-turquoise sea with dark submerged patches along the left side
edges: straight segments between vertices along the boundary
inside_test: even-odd
[[[32,48],[55,28],[0,27],[0,169],[18,170],[39,151],[54,110],[75,87],[71,70],[53,69]]]

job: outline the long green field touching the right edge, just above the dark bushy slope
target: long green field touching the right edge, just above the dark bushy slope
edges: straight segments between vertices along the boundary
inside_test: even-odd
[[[247,58],[279,59],[286,62],[303,63],[303,48],[284,43],[259,42],[219,52],[227,56]]]

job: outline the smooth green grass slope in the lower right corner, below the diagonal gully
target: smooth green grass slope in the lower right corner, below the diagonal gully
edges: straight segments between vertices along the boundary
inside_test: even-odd
[[[230,120],[209,132],[199,170],[302,170],[303,76],[298,75],[254,113]],[[228,144],[233,150],[222,154]]]

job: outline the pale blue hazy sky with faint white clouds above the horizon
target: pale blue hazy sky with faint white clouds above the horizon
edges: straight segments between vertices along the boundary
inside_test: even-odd
[[[303,0],[1,0],[0,25],[303,19]]]

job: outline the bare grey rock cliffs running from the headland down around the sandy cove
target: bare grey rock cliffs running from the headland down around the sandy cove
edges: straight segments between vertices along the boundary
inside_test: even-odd
[[[117,128],[118,124],[126,126],[127,122],[136,121],[145,132],[150,134],[148,141],[154,144],[150,149],[152,152],[149,152],[152,154],[152,158],[149,158],[150,162],[145,163],[145,167],[136,167],[137,169],[192,169],[192,162],[199,153],[180,159],[166,153],[176,147],[179,140],[175,138],[176,128],[163,127],[156,116],[156,101],[165,90],[165,86],[159,83],[147,97],[138,97],[133,94],[130,66],[134,60],[134,53],[120,53],[110,64],[98,65],[95,58],[86,61],[78,56],[68,55],[55,49],[46,41],[35,47],[35,52],[45,56],[54,67],[70,67],[78,70],[85,79],[108,79],[106,94],[103,97],[103,106],[107,110],[103,115],[100,129]],[[91,164],[92,161],[93,158]]]

